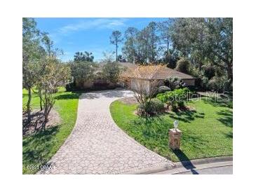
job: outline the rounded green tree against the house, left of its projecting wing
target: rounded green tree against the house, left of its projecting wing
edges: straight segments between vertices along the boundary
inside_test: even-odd
[[[112,83],[119,80],[120,68],[116,62],[108,62],[102,69],[103,76]]]

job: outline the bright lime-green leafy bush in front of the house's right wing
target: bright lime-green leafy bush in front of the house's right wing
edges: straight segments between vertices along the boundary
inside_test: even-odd
[[[164,93],[159,93],[156,97],[163,103],[172,107],[175,111],[185,106],[185,102],[188,100],[189,89],[181,88],[175,89],[173,91],[167,91]]]

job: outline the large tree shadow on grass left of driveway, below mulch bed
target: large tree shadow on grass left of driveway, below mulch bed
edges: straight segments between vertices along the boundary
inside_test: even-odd
[[[23,137],[22,161],[23,165],[43,165],[48,160],[50,149],[55,144],[58,126],[36,132],[34,135]]]

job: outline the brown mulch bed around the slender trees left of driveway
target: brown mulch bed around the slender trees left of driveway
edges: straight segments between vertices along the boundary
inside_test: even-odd
[[[42,130],[42,125],[44,121],[43,111],[33,110],[31,116],[31,122],[27,123],[27,113],[22,114],[22,135],[31,135],[35,132]],[[46,129],[51,128],[56,125],[60,125],[61,118],[57,111],[52,109],[48,116],[48,122],[46,123]]]

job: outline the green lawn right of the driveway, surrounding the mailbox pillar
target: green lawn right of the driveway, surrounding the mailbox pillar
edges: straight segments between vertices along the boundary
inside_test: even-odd
[[[203,98],[188,105],[196,111],[163,114],[157,117],[140,118],[134,114],[136,104],[111,104],[112,118],[121,129],[151,151],[173,161],[191,160],[233,153],[233,110],[232,102],[215,102]],[[168,147],[168,130],[173,121],[179,121],[182,130],[180,150]]]

